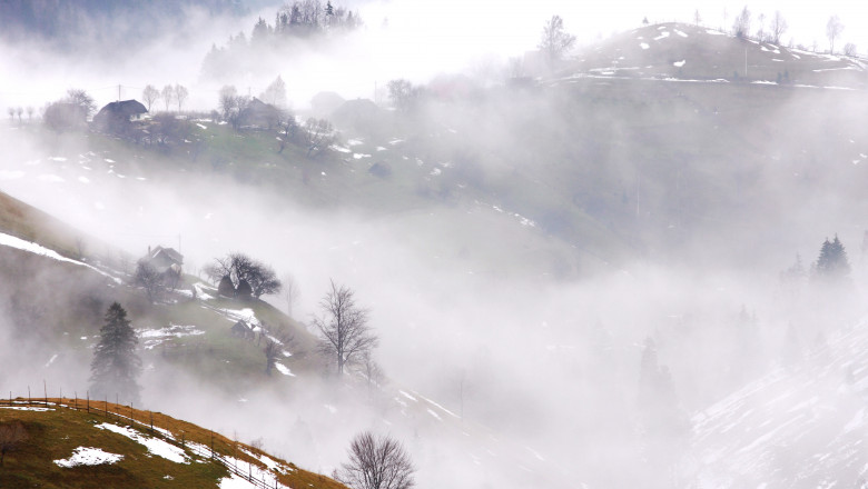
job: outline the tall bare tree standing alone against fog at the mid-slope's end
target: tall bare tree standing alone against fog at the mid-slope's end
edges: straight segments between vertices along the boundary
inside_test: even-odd
[[[335,357],[342,375],[344,366],[374,348],[378,339],[367,326],[367,309],[356,306],[355,292],[334,280],[331,285],[332,290],[319,301],[326,317],[314,318],[314,326],[322,336],[323,352]]]

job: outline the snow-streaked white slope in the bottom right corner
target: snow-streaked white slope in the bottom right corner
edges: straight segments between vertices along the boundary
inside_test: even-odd
[[[700,488],[864,487],[868,318],[693,421]]]

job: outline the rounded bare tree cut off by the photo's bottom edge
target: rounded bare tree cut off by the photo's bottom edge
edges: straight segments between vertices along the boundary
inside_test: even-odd
[[[415,471],[400,441],[364,431],[353,438],[349,462],[342,463],[335,478],[353,489],[410,489]]]

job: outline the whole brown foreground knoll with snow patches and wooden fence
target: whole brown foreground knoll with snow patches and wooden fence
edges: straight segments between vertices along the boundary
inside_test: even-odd
[[[4,488],[324,488],[344,486],[206,428],[78,399],[0,401]],[[9,428],[16,428],[16,437]]]

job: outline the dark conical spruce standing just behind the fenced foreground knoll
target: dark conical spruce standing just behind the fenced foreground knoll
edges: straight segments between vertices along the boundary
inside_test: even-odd
[[[138,338],[118,302],[106,312],[106,323],[90,362],[90,396],[100,399],[117,396],[121,402],[139,402],[137,378],[141,360],[136,355]]]

